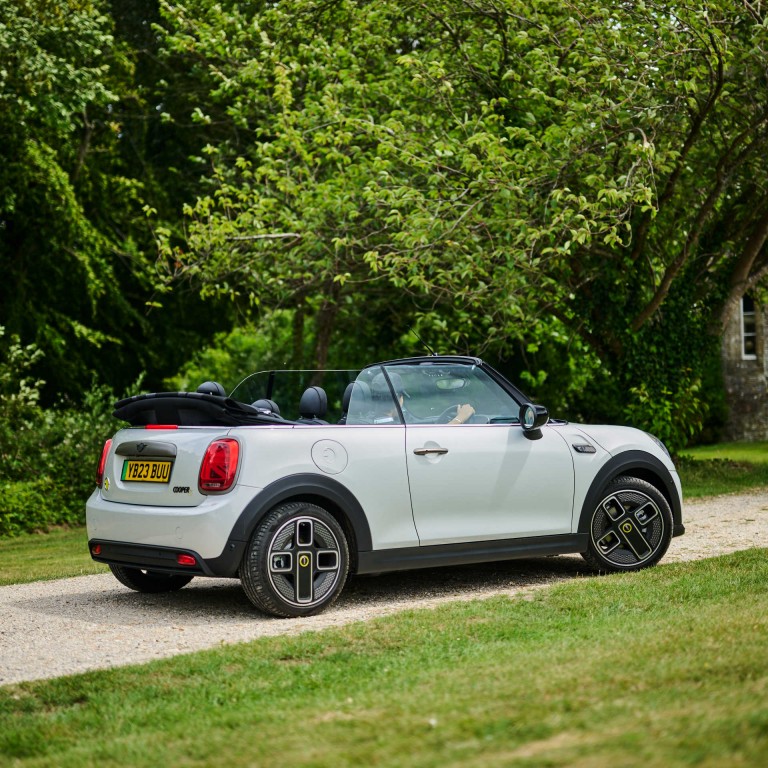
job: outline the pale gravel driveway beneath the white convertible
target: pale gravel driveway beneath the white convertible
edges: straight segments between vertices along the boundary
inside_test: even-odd
[[[768,547],[768,490],[687,503],[683,519],[687,532],[662,562]],[[110,573],[1,587],[0,685],[514,595],[583,573],[580,557],[560,556],[358,577],[326,613],[293,620],[255,612],[235,580],[195,579],[166,595],[132,592]]]

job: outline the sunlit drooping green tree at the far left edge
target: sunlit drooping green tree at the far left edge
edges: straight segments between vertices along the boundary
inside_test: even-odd
[[[0,1],[0,305],[9,332],[37,343],[59,382],[80,378],[80,350],[117,341],[131,314],[114,238],[89,216],[102,196],[117,207],[133,194],[130,180],[107,181],[90,162],[114,132],[112,42],[92,2]],[[112,319],[99,312],[105,302]]]

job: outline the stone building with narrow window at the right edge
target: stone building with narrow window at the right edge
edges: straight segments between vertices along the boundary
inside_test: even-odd
[[[726,440],[768,440],[768,307],[744,296],[723,336]]]

